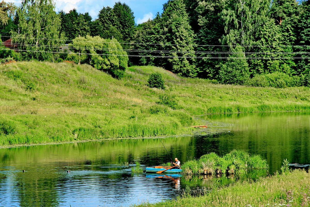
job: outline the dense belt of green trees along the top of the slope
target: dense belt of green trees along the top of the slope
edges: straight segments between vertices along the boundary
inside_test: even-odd
[[[154,65],[186,77],[260,87],[310,86],[310,1],[168,0],[135,24],[115,2],[92,20],[53,0],[0,2],[0,58],[87,63],[121,78],[127,65]]]

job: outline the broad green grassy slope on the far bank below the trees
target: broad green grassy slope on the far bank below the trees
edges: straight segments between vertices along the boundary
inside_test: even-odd
[[[148,88],[163,74],[166,90]],[[168,95],[176,110],[157,104]],[[0,145],[191,133],[206,113],[310,110],[309,88],[254,88],[130,67],[121,80],[89,65],[18,62],[0,66]]]

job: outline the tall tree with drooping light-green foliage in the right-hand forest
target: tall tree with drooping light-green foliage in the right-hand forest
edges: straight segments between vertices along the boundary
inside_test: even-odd
[[[237,0],[225,1],[223,10],[220,13],[224,21],[224,35],[221,38],[222,45],[226,45],[228,52],[227,67],[236,68],[236,71],[226,70],[227,73],[222,73],[221,77],[228,77],[239,71],[240,61],[243,61],[242,70],[244,73],[249,73],[249,68],[246,68],[246,53],[249,52],[252,45],[255,45],[259,29],[268,21],[268,10],[270,0]],[[243,47],[235,47],[243,46]],[[237,49],[238,48],[238,49]],[[236,59],[244,57],[244,59]],[[224,70],[225,71],[225,70]],[[238,82],[236,82],[238,83]]]

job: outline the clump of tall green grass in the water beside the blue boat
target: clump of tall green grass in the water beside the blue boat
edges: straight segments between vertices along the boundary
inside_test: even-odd
[[[250,155],[246,151],[233,150],[219,156],[214,152],[202,155],[199,159],[182,164],[183,174],[234,174],[242,169],[267,169],[268,164],[260,155]]]

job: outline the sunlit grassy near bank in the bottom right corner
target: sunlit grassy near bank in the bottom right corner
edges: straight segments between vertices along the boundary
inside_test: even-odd
[[[287,175],[260,178],[258,182],[244,182],[212,190],[205,196],[185,196],[177,200],[139,207],[267,207],[267,206],[310,206],[310,174],[295,170]]]

